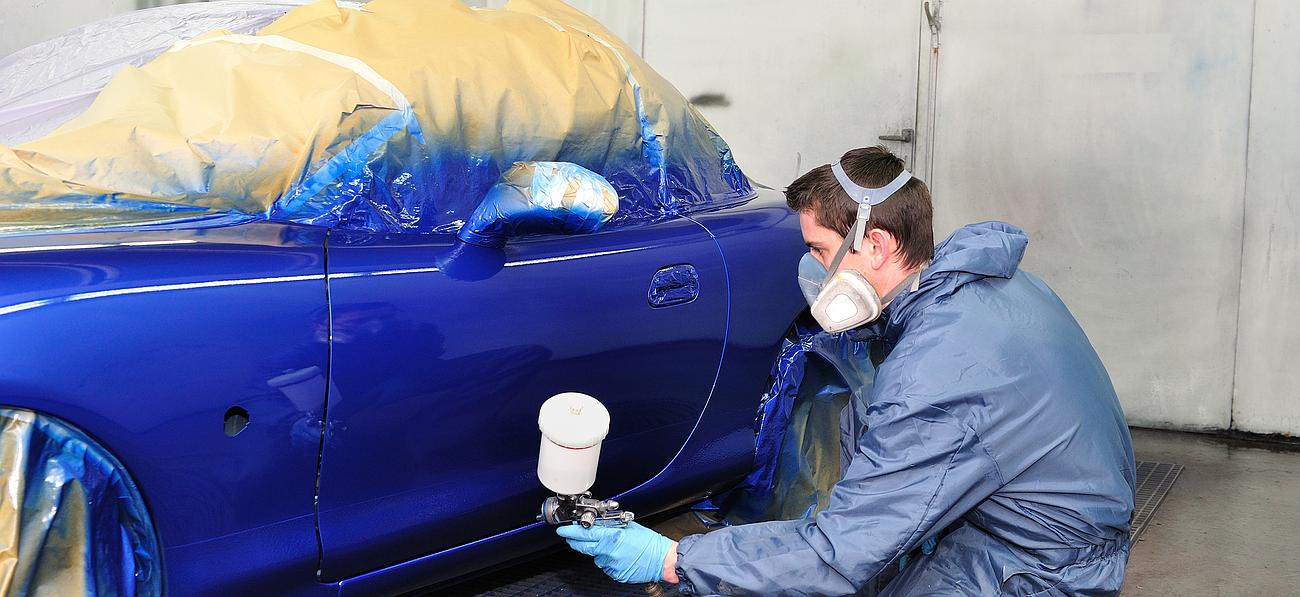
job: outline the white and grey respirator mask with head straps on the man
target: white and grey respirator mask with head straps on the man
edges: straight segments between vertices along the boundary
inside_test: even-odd
[[[862,237],[866,234],[867,221],[871,220],[871,207],[884,203],[890,195],[898,192],[907,181],[911,181],[911,173],[902,170],[888,185],[880,189],[867,189],[853,182],[838,161],[831,164],[831,172],[835,173],[835,178],[840,181],[840,186],[849,194],[849,198],[858,204],[858,217],[854,220],[853,228],[849,229],[849,234],[844,237],[844,243],[836,251],[835,259],[831,260],[829,271],[822,267],[811,254],[803,255],[803,259],[800,260],[800,289],[803,290],[803,298],[812,307],[812,319],[822,325],[822,329],[838,333],[875,321],[876,317],[880,317],[880,311],[887,303],[916,282],[918,274],[914,273],[907,280],[898,282],[898,286],[881,298],[861,272],[838,271],[840,261],[844,260],[850,247],[854,251],[862,250]]]

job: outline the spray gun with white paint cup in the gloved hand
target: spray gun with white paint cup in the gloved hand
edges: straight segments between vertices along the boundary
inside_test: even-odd
[[[586,394],[568,391],[542,403],[537,415],[542,446],[537,457],[537,479],[555,492],[542,502],[538,520],[547,524],[577,522],[592,528],[597,522],[628,524],[634,515],[614,499],[595,499],[588,490],[595,483],[601,442],[610,432],[610,411]]]

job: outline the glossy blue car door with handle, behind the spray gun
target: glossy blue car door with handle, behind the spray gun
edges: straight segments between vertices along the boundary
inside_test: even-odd
[[[686,219],[512,239],[335,233],[318,524],[337,580],[534,522],[538,407],[610,410],[593,490],[672,459],[727,330],[716,243]]]

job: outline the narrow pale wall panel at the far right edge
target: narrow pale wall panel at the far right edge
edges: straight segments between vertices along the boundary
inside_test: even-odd
[[[1257,0],[1232,425],[1300,434],[1300,3]]]

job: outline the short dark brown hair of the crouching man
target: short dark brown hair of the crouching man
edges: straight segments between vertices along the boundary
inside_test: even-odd
[[[850,150],[840,157],[844,173],[859,186],[879,189],[902,170],[902,159],[884,147]],[[819,165],[794,179],[785,189],[785,203],[796,212],[812,212],[815,221],[841,237],[849,235],[858,217],[858,204],[840,186],[831,165]],[[913,177],[898,192],[871,208],[867,229],[879,228],[893,234],[902,251],[904,265],[919,267],[935,254],[933,207],[930,189]]]

